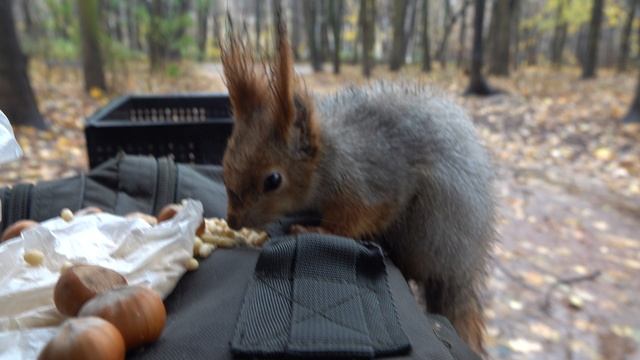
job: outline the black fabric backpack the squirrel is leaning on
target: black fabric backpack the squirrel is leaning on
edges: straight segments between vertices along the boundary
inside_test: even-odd
[[[219,166],[121,154],[88,174],[0,189],[0,231],[63,208],[157,214],[186,198],[201,201],[205,217],[225,217],[221,175]],[[128,358],[479,359],[446,318],[419,308],[377,245],[286,236],[293,222],[305,217],[270,225],[262,251],[217,250],[187,273],[165,299],[162,337]]]

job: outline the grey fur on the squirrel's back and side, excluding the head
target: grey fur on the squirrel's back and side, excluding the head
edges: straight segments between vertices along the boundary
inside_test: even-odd
[[[433,90],[390,83],[318,99],[316,111],[323,154],[309,204],[337,189],[365,204],[396,202],[380,241],[405,276],[429,287],[429,309],[452,320],[481,307],[493,174],[465,111]]]

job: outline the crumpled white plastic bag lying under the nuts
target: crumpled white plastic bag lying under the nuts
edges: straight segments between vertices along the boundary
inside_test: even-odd
[[[35,359],[64,320],[53,288],[65,261],[113,269],[131,285],[147,285],[165,298],[193,256],[202,204],[188,200],[175,217],[151,226],[107,213],[47,220],[0,244],[0,360]],[[45,254],[40,266],[25,250]]]

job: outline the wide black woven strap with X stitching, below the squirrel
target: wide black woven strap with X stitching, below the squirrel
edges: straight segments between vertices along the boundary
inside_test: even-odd
[[[304,234],[262,251],[231,343],[250,356],[372,358],[409,351],[377,245]]]

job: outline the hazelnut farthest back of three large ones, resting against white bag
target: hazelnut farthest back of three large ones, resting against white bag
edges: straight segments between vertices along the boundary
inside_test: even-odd
[[[60,274],[53,289],[53,302],[61,313],[75,316],[97,294],[125,285],[127,279],[111,269],[74,265]]]

